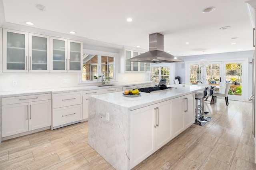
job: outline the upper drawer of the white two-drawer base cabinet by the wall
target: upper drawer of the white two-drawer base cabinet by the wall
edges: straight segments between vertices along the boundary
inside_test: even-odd
[[[52,95],[52,108],[79,105],[83,103],[82,91]]]

